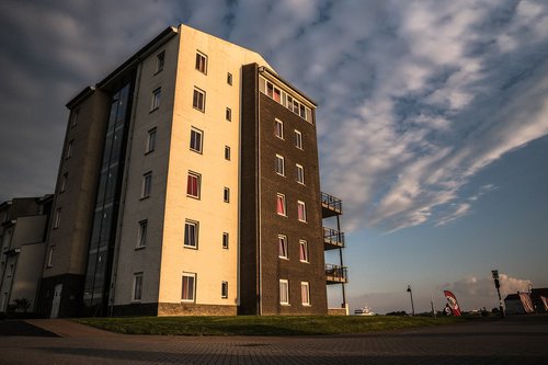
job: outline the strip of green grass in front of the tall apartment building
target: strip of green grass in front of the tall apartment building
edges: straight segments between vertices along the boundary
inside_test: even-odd
[[[75,321],[128,334],[169,335],[318,335],[364,333],[416,327],[459,323],[463,317],[338,317],[338,316],[240,316],[240,317],[130,317],[81,318]]]

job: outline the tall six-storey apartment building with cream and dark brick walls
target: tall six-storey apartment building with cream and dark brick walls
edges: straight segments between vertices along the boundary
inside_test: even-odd
[[[169,27],[67,107],[43,315],[327,313],[317,105],[262,56]]]

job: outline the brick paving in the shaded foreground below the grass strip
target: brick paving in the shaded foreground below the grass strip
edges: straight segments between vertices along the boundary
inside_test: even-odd
[[[548,364],[548,316],[288,338],[122,335],[52,323],[47,331],[65,337],[2,335],[0,323],[0,364]]]

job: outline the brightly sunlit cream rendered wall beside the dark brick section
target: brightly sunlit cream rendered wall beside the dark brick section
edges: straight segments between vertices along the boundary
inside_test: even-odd
[[[167,181],[163,248],[158,301],[181,303],[182,274],[196,274],[195,303],[238,304],[238,202],[240,76],[242,65],[264,59],[248,49],[199,31],[180,26],[180,53],[171,129]],[[207,75],[195,69],[196,52],[207,56]],[[232,85],[227,83],[232,73]],[[205,113],[193,107],[194,88],[206,92]],[[232,112],[226,121],[226,109]],[[191,128],[204,133],[203,153],[190,150]],[[231,150],[225,160],[225,146]],[[186,196],[189,171],[202,176],[201,198]],[[222,199],[230,189],[230,202]],[[199,223],[198,247],[183,247],[185,219]],[[222,249],[228,232],[229,249]],[[221,282],[228,282],[228,298],[221,298]]]

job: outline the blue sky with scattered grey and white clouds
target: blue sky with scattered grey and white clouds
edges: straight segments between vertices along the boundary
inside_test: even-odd
[[[170,25],[251,48],[315,99],[351,309],[548,287],[548,2],[0,2],[0,201],[55,189],[65,104]],[[326,221],[333,225],[333,221]],[[327,254],[336,263],[338,256]],[[340,306],[341,287],[328,289]]]

